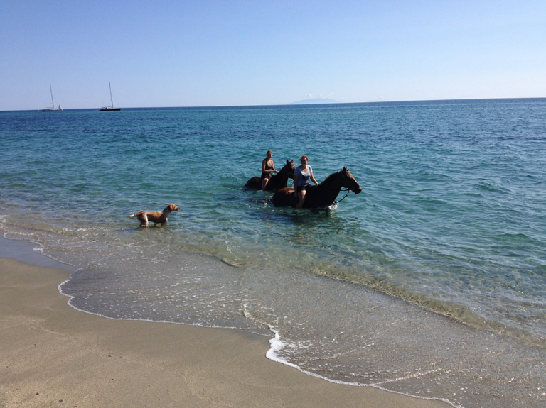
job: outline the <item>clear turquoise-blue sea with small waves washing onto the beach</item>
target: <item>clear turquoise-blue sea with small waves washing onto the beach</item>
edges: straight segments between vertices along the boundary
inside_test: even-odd
[[[244,187],[269,149],[363,191],[276,208]],[[0,232],[75,268],[75,309],[257,333],[309,375],[453,407],[546,406],[546,99],[2,111],[0,151]],[[164,226],[129,218],[169,203]]]

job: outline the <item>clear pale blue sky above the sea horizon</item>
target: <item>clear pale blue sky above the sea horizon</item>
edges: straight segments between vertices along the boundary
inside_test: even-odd
[[[0,0],[0,111],[546,97],[546,1]]]

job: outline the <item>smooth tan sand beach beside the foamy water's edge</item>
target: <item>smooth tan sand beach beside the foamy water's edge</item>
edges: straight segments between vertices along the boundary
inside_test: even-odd
[[[77,311],[33,247],[0,239],[0,407],[450,407],[306,375],[264,336]]]

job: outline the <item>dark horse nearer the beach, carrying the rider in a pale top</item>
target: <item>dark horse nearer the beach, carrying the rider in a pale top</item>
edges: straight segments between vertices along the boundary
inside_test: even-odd
[[[362,191],[355,177],[350,174],[347,167],[343,167],[341,172],[329,175],[318,186],[307,187],[304,208],[314,209],[331,206],[338,197],[341,187],[352,190],[355,194]],[[273,195],[272,202],[274,206],[295,207],[299,202],[299,198],[294,196],[294,189],[287,187],[276,192]]]

